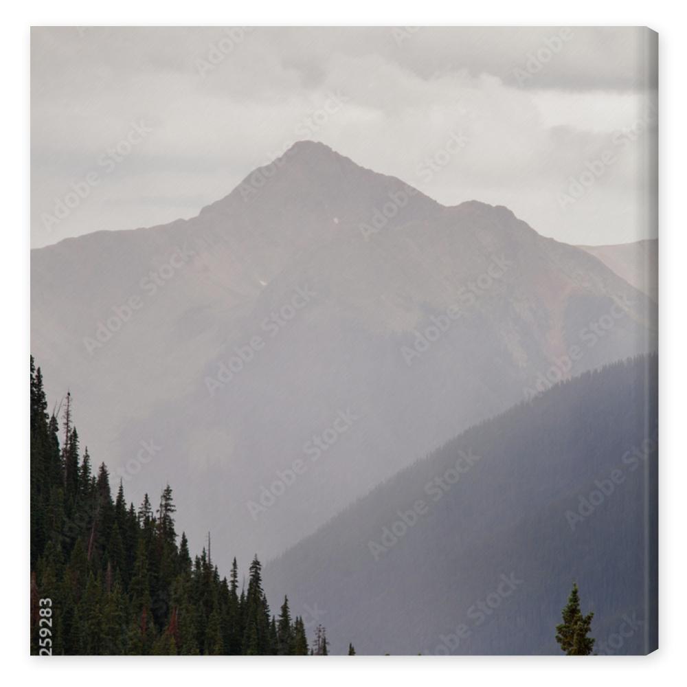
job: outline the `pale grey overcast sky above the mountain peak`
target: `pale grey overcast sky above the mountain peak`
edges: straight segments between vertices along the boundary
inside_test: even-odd
[[[633,28],[34,28],[32,246],[189,218],[300,139],[567,243],[655,236],[652,46]]]

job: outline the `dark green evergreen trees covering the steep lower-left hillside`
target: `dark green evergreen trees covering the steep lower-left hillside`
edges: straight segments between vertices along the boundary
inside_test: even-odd
[[[56,416],[56,414],[58,416]],[[31,359],[31,653],[36,655],[326,655],[317,627],[284,598],[278,616],[251,562],[240,587],[236,559],[221,577],[203,549],[177,535],[172,488],[113,497],[104,464],[93,469],[71,416],[71,396],[49,415],[41,369]],[[178,540],[178,541],[177,541]]]

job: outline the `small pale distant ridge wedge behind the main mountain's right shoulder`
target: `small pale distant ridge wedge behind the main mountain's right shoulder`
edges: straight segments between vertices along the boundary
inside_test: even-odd
[[[611,246],[579,246],[658,302],[658,239]]]

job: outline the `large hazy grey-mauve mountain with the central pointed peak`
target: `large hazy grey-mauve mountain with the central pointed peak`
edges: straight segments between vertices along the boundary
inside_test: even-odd
[[[655,305],[585,251],[322,144],[189,221],[32,251],[49,398],[71,388],[91,454],[137,501],[176,485],[192,544],[212,530],[224,567],[551,381],[654,346]]]

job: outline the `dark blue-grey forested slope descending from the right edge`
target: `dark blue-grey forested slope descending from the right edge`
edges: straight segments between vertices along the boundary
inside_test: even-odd
[[[616,363],[469,429],[268,565],[269,592],[337,653],[557,653],[577,581],[598,651],[650,651],[656,383],[655,357]]]

